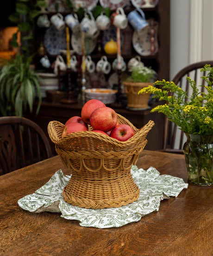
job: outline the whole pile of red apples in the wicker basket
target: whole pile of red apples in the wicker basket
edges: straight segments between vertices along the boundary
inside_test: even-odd
[[[92,132],[110,136],[118,141],[127,141],[135,131],[127,124],[119,124],[116,112],[106,107],[100,100],[89,100],[81,109],[81,117],[73,116],[65,123],[62,138],[75,132],[88,131],[88,124]]]

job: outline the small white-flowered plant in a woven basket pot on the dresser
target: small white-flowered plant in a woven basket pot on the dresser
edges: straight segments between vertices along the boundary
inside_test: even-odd
[[[148,108],[150,94],[143,93],[138,95],[138,91],[153,84],[156,76],[156,71],[144,66],[143,63],[132,67],[130,77],[123,82],[129,109]]]

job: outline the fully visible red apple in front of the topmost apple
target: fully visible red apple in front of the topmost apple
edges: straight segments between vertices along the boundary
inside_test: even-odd
[[[115,111],[109,107],[100,107],[90,116],[90,124],[94,130],[104,132],[112,130],[118,121]]]

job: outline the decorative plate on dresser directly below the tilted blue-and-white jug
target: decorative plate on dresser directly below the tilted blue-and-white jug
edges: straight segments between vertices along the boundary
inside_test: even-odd
[[[157,27],[158,27],[158,23],[155,22],[153,28],[155,29],[156,33],[157,33]],[[145,27],[144,30],[140,33],[138,33],[137,31],[134,31],[133,36],[132,36],[132,45],[133,45],[135,51],[137,51],[138,54],[140,54],[141,56],[151,55],[150,26]],[[156,40],[154,54],[157,51],[158,51],[158,43]]]

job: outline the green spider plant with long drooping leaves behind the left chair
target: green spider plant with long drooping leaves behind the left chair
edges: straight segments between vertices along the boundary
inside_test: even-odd
[[[38,108],[41,93],[38,75],[30,68],[32,57],[17,55],[6,61],[0,71],[0,112],[1,115],[22,116],[24,111],[32,111],[33,101],[38,96]]]

